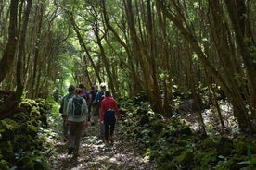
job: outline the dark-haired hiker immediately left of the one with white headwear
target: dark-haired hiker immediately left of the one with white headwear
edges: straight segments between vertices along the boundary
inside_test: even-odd
[[[98,92],[98,85],[92,86],[90,91],[91,101],[95,101],[96,99],[96,93]],[[96,121],[99,119],[98,110],[96,111],[96,103],[92,103],[91,105],[91,125],[95,125]]]

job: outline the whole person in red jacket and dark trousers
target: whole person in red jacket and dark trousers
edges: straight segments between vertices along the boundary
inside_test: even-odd
[[[100,121],[104,123],[105,126],[105,144],[114,142],[113,134],[116,124],[116,116],[120,118],[120,113],[118,110],[117,103],[113,97],[110,96],[109,91],[105,91],[105,97],[101,102],[100,107]],[[109,132],[110,127],[110,132]]]

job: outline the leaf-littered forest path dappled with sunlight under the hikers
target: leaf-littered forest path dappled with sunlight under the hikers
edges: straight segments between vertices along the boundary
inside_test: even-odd
[[[86,128],[86,136],[81,140],[78,158],[68,155],[67,142],[58,138],[55,143],[56,153],[49,160],[51,169],[88,169],[88,170],[154,170],[155,163],[145,159],[143,145],[125,139],[122,123],[117,122],[113,145],[105,145],[98,140],[99,126]],[[58,133],[61,129],[57,130]],[[61,135],[61,134],[60,134]]]

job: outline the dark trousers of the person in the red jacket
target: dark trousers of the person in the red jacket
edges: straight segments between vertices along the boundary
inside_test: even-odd
[[[110,136],[113,136],[116,117],[114,111],[105,111],[104,112],[104,125],[105,125],[105,140],[109,140],[109,127],[110,127]]]

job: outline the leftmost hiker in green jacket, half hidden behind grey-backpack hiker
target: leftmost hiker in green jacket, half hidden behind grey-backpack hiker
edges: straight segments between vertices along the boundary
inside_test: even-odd
[[[59,113],[62,115],[62,126],[63,126],[63,136],[64,136],[64,141],[68,140],[68,132],[69,132],[69,126],[66,124],[66,120],[67,120],[67,116],[68,116],[68,112],[67,112],[67,107],[68,107],[68,103],[70,98],[72,98],[74,96],[74,92],[75,92],[75,86],[74,85],[70,85],[68,88],[69,93],[66,94],[60,103],[60,108],[59,108]]]

